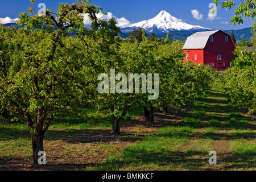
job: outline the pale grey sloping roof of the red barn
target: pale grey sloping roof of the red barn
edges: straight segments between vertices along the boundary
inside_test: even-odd
[[[196,32],[187,38],[182,49],[204,49],[208,42],[209,36],[218,31],[220,30]]]

